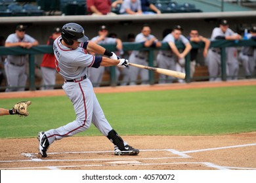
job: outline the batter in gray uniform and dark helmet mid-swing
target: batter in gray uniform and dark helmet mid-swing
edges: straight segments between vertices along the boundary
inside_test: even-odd
[[[89,67],[98,68],[112,65],[128,67],[128,60],[117,59],[116,54],[113,52],[109,52],[102,46],[88,41],[88,38],[84,35],[83,27],[75,23],[65,24],[62,27],[61,36],[53,43],[53,50],[56,58],[56,70],[65,80],[62,88],[70,101],[72,101],[76,119],[57,129],[39,132],[39,154],[43,158],[47,157],[47,148],[49,148],[50,144],[63,137],[70,137],[85,131],[90,127],[91,123],[114,143],[115,155],[139,154],[139,150],[129,146],[112,129],[96,99],[93,85],[87,78]],[[95,54],[104,54],[110,58],[93,56],[87,54],[87,51]]]

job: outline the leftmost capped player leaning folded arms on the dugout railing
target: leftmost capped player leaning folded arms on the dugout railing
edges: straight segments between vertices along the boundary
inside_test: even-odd
[[[26,25],[18,24],[15,33],[9,35],[5,41],[5,47],[20,46],[30,49],[39,43],[30,35],[26,34]],[[26,75],[26,64],[28,64],[28,54],[9,55],[5,59],[5,73],[7,76],[8,88],[5,92],[24,91],[28,76]]]

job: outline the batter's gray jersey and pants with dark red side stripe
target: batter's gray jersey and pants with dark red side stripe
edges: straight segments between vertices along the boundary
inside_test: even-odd
[[[75,50],[68,48],[61,43],[61,37],[58,37],[53,44],[56,70],[66,80],[62,88],[72,101],[76,119],[57,129],[45,131],[49,144],[85,131],[91,123],[105,136],[108,136],[112,130],[96,99],[93,85],[89,78],[86,78],[87,67],[99,67],[102,58],[87,54],[85,50],[87,42],[82,42],[80,46],[85,48],[79,47]]]

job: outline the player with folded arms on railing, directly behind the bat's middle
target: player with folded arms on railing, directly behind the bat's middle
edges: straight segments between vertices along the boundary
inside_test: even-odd
[[[151,27],[144,24],[141,27],[141,32],[135,37],[135,42],[139,42],[144,47],[160,47],[161,42],[151,34]],[[140,65],[148,65],[148,51],[133,50],[129,57],[130,63],[137,63]],[[137,78],[140,76],[141,84],[148,84],[149,73],[146,69],[139,69],[137,67],[129,67],[130,85],[137,84]]]

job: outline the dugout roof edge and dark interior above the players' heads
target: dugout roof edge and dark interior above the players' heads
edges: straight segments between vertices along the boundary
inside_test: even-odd
[[[0,35],[7,37],[14,33],[14,27],[18,23],[27,24],[26,31],[39,41],[39,44],[45,45],[53,27],[62,27],[68,22],[80,24],[85,29],[85,34],[89,37],[95,37],[98,27],[102,24],[107,25],[109,32],[116,33],[123,42],[129,33],[140,32],[142,24],[150,24],[152,34],[162,39],[163,30],[181,25],[184,29],[183,35],[188,35],[190,29],[196,28],[204,37],[210,37],[214,27],[219,26],[219,20],[225,18],[228,20],[230,28],[238,33],[243,33],[245,28],[256,25],[255,11],[241,12],[194,12],[194,13],[175,13],[158,15],[118,15],[118,16],[29,16],[29,17],[1,17]],[[2,53],[1,53],[2,54]],[[156,54],[154,54],[156,55]],[[43,52],[35,54],[34,61],[40,65]]]

